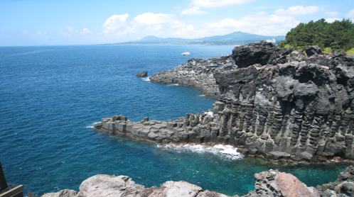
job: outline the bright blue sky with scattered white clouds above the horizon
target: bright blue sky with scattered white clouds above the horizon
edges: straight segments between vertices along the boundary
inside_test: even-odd
[[[0,0],[0,46],[286,35],[321,18],[354,20],[354,0]]]

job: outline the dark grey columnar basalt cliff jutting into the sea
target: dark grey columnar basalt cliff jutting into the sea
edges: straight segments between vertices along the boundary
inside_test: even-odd
[[[163,122],[102,118],[96,130],[159,143],[219,143],[269,159],[354,159],[354,58],[258,42],[232,55],[192,59],[151,81],[217,97],[213,109]]]

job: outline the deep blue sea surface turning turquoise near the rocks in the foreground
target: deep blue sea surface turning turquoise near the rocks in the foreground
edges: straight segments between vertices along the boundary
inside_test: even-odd
[[[227,195],[254,189],[254,173],[279,169],[308,186],[335,181],[345,167],[281,167],[244,158],[228,146],[164,146],[93,129],[115,114],[173,120],[212,108],[196,89],[154,84],[149,76],[191,58],[229,55],[232,46],[76,45],[0,47],[0,161],[24,193],[79,191],[95,174],[127,175],[137,184],[188,181]],[[183,56],[182,52],[191,52]]]

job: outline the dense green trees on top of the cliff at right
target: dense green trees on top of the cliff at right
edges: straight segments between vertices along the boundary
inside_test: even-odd
[[[354,47],[354,23],[350,19],[326,22],[325,19],[316,22],[300,23],[286,33],[286,40],[279,43],[280,47],[294,47],[304,50],[306,46],[318,45],[324,53],[348,51]]]

